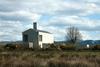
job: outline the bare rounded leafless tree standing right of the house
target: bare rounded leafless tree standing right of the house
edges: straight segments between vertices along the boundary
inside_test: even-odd
[[[75,45],[80,42],[82,39],[81,33],[78,28],[72,26],[67,29],[66,41],[72,45]]]

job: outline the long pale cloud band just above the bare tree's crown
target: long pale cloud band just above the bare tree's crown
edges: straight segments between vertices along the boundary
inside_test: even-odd
[[[53,17],[51,21],[49,21],[48,26],[54,26],[54,27],[63,27],[66,26],[77,26],[79,29],[82,30],[99,30],[98,27],[100,26],[99,20],[91,20],[89,18],[80,17],[80,16],[57,16]],[[85,29],[86,28],[86,29]]]

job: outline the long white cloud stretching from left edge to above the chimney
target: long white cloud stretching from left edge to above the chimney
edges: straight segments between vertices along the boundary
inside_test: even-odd
[[[37,21],[40,15],[28,11],[0,12],[0,19],[6,21]]]

